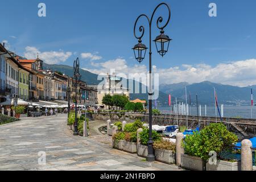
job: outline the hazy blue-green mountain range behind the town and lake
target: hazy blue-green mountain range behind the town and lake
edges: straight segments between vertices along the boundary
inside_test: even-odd
[[[44,69],[52,69],[73,76],[73,67],[68,65],[46,64],[43,63]],[[85,81],[88,85],[97,85],[101,80],[97,80],[98,75],[80,69],[81,80]],[[142,85],[142,84],[141,84]],[[214,91],[217,90],[217,98],[219,104],[225,105],[250,105],[250,89],[256,89],[256,85],[247,87],[239,87],[232,85],[217,84],[209,81],[199,82],[195,84],[188,84],[187,82],[180,82],[176,84],[161,84],[159,85],[159,98],[157,106],[168,106],[168,94],[172,95],[172,103],[175,98],[178,102],[185,102],[185,87],[187,87],[187,101],[189,103],[189,95],[191,96],[191,104],[196,104],[196,94],[198,103],[201,105],[214,105]],[[190,94],[189,94],[190,93]],[[147,100],[146,93],[131,93],[130,100],[136,98]],[[155,101],[153,101],[155,104]]]

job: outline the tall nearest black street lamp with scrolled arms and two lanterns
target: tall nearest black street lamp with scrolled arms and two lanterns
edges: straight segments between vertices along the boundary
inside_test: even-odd
[[[152,75],[151,75],[151,73],[152,73],[151,27],[152,27],[152,19],[154,18],[155,12],[158,9],[158,7],[160,7],[162,5],[164,5],[168,8],[169,16],[168,16],[166,24],[164,24],[164,26],[162,26],[162,27],[159,26],[159,23],[163,22],[163,17],[160,16],[158,18],[158,20],[156,21],[156,26],[160,30],[160,35],[157,36],[155,38],[155,40],[153,40],[153,41],[156,44],[156,50],[158,51],[158,53],[161,56],[164,56],[166,54],[166,52],[168,51],[169,44],[170,44],[170,41],[171,41],[171,39],[167,35],[164,35],[164,28],[167,26],[167,24],[169,23],[169,21],[171,19],[170,7],[166,3],[160,3],[158,6],[156,6],[153,14],[151,15],[151,18],[148,18],[148,16],[145,15],[145,14],[139,15],[135,24],[134,24],[134,36],[135,36],[135,38],[138,39],[139,43],[134,46],[133,50],[134,50],[135,59],[137,59],[137,61],[139,63],[141,63],[142,60],[144,59],[144,56],[146,55],[146,50],[147,50],[147,47],[144,44],[142,44],[142,37],[144,35],[144,27],[143,26],[139,27],[139,31],[142,32],[141,36],[137,36],[136,32],[135,32],[137,22],[138,22],[139,18],[141,18],[142,16],[146,17],[146,19],[148,20],[149,33],[150,33],[149,34],[149,36],[150,36],[150,47],[149,47],[149,73],[150,73],[150,78],[149,78],[149,91],[148,91],[148,96],[149,96],[149,98],[148,98],[148,100],[149,100],[149,122],[148,122],[149,123],[149,138],[148,138],[148,156],[147,156],[147,161],[148,162],[152,162],[152,161],[155,160],[154,150],[153,150],[153,147],[152,147],[152,144],[153,144],[153,140],[152,140],[152,95],[154,93],[152,93]]]

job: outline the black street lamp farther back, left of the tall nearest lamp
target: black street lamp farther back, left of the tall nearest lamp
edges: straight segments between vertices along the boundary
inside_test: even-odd
[[[79,85],[79,82],[81,80],[81,75],[79,73],[79,57],[77,57],[77,59],[74,61],[73,69],[74,69],[73,77],[75,80],[75,82],[73,84],[74,84],[75,90],[76,90],[74,135],[78,135],[78,130],[77,130],[77,86]]]

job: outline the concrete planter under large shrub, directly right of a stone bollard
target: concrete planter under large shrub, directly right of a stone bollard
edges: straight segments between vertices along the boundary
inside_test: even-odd
[[[193,171],[205,171],[205,162],[199,157],[182,154],[181,167]]]

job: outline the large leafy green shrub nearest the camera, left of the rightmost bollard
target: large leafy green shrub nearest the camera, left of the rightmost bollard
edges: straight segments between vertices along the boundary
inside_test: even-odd
[[[231,150],[237,140],[237,136],[228,131],[223,123],[211,123],[200,133],[187,135],[183,147],[186,154],[199,156],[206,161],[210,151],[215,151],[217,158],[221,159],[221,153]]]

